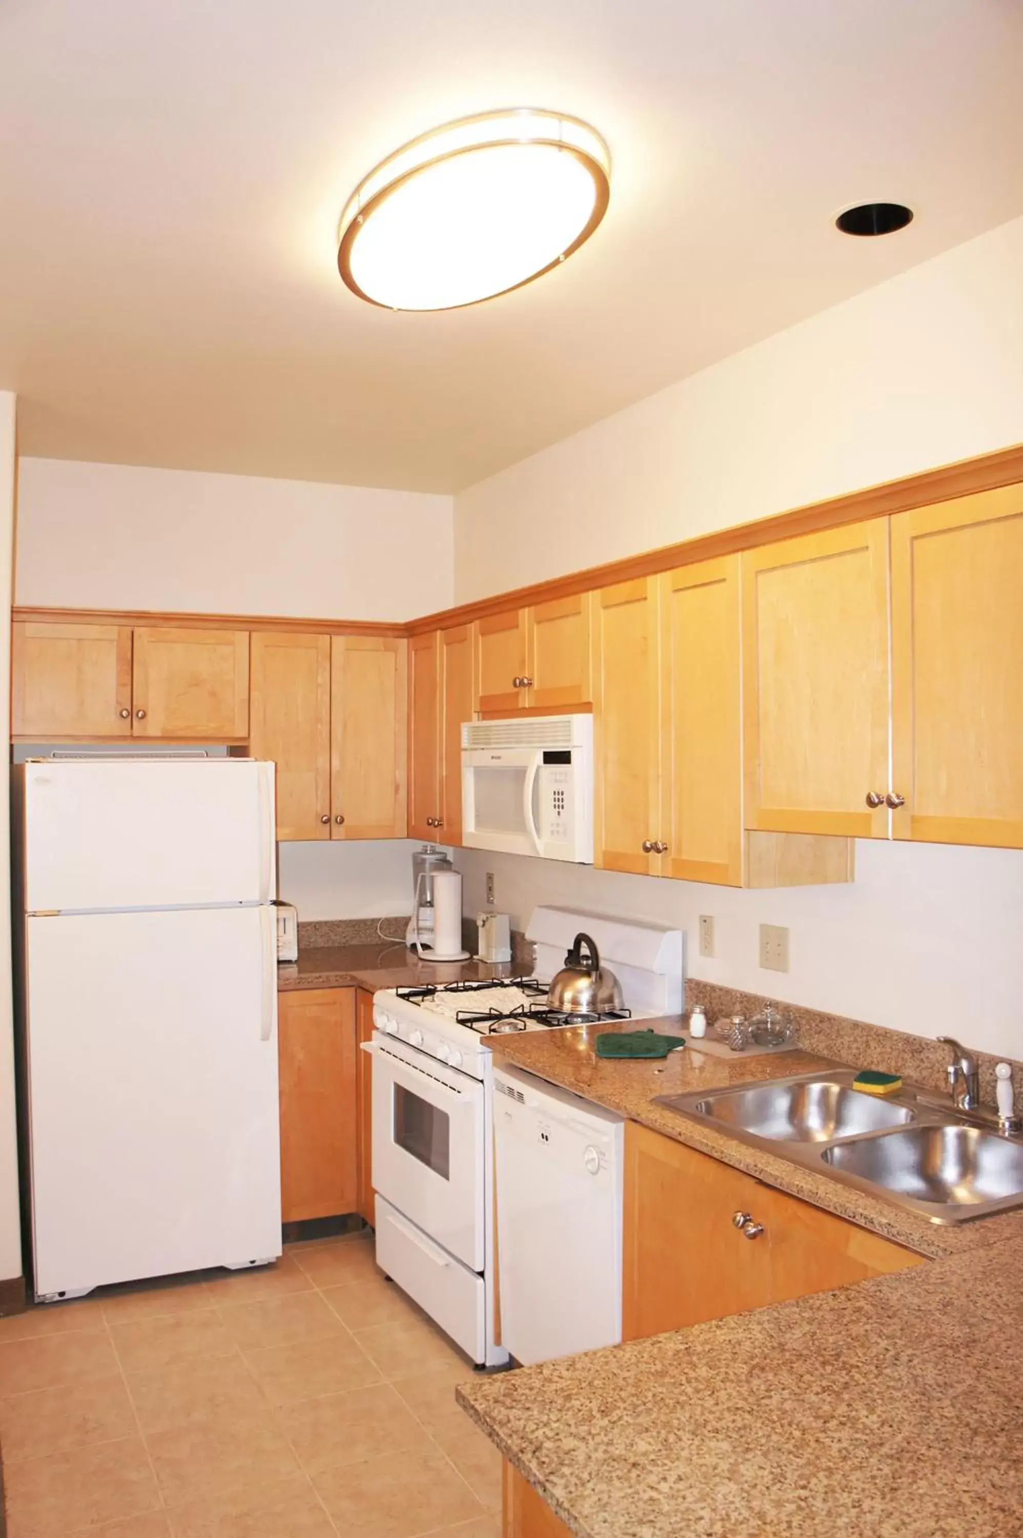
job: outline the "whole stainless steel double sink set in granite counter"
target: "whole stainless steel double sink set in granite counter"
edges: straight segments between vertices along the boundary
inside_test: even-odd
[[[914,1084],[878,1097],[854,1089],[854,1077],[852,1069],[801,1074],[658,1095],[657,1104],[932,1223],[1023,1206],[1023,1140],[972,1123]]]

